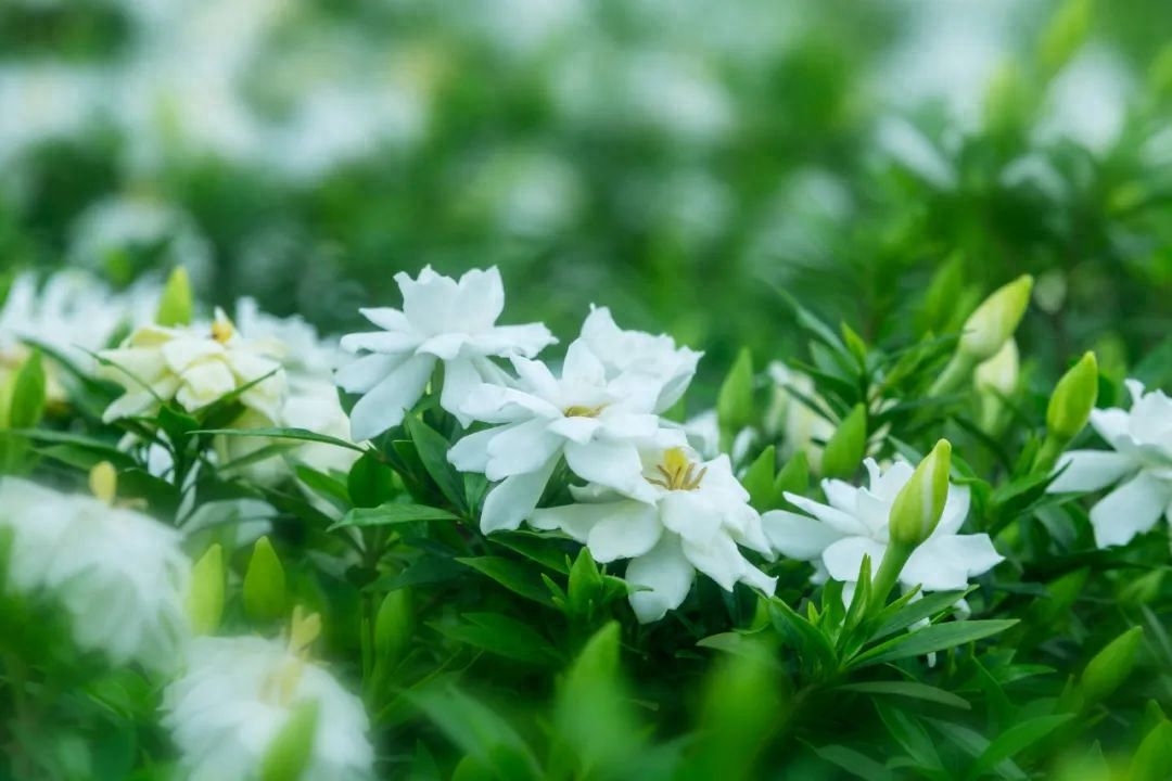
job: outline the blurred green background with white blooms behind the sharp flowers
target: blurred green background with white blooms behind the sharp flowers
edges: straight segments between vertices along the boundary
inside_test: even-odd
[[[1170,324],[1168,30],[1165,0],[4,0],[0,263],[182,262],[327,333],[397,270],[498,263],[506,320],[608,304],[709,388],[796,349],[777,289],[898,342],[1030,272],[1041,374],[1122,365]]]

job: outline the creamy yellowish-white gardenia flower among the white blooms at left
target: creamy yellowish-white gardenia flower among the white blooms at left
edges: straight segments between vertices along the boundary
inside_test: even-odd
[[[270,422],[280,418],[285,393],[281,364],[263,345],[245,340],[223,311],[210,328],[146,326],[121,347],[104,350],[98,375],[127,389],[103,415],[109,423],[144,415],[175,399],[195,412],[251,385],[240,403]]]

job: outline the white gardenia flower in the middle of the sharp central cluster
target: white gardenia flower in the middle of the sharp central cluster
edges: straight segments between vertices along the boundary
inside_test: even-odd
[[[639,375],[607,378],[585,342],[566,350],[561,377],[539,361],[515,357],[516,388],[483,384],[464,405],[476,420],[497,424],[461,439],[448,459],[462,472],[483,472],[500,485],[481,515],[485,533],[516,529],[537,507],[563,457],[582,480],[652,501],[640,446],[684,444],[681,430],[661,427],[653,412],[660,383]]]

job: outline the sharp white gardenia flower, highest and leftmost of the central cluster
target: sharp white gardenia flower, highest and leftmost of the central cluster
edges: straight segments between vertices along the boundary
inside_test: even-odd
[[[338,371],[338,384],[362,398],[350,412],[356,441],[397,426],[423,395],[436,363],[442,362],[440,404],[461,418],[469,392],[483,382],[502,382],[490,357],[533,357],[557,340],[540,323],[497,326],[505,293],[500,272],[472,269],[459,278],[424,267],[417,279],[395,274],[403,308],[362,309],[382,331],[342,337],[342,349],[364,352]]]

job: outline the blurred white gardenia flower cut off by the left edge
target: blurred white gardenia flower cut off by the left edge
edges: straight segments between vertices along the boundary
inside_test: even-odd
[[[8,583],[69,617],[79,648],[169,672],[186,642],[191,563],[173,528],[93,496],[0,478]]]

